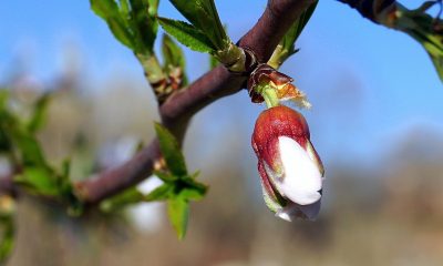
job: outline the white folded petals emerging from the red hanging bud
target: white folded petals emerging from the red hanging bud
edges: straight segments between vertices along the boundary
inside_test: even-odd
[[[321,173],[308,153],[295,140],[279,136],[278,144],[284,175],[275,178],[279,193],[300,205],[321,198]]]

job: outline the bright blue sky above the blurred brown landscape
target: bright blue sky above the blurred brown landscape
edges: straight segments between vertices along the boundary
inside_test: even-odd
[[[414,2],[403,1],[409,7]],[[219,0],[216,4],[237,40],[259,18],[266,1]],[[66,45],[74,43],[83,58],[82,73],[92,83],[114,73],[144,82],[132,53],[113,39],[86,0],[4,1],[0,11],[0,81],[18,54],[37,79],[51,81],[61,71]],[[179,17],[167,1],[161,2],[159,13]],[[424,50],[405,34],[374,25],[338,1],[320,1],[298,47],[300,52],[282,71],[311,100],[313,109],[305,114],[313,142],[327,160],[337,160],[342,151],[343,160],[377,160],[404,132],[443,132],[442,83]],[[186,58],[192,62],[192,79],[206,71],[206,55],[187,52]],[[200,116],[210,119],[229,104],[244,106],[240,122],[251,132],[262,106],[249,104],[246,93],[220,101]],[[231,117],[227,112],[222,120]],[[214,132],[218,131],[214,125]]]

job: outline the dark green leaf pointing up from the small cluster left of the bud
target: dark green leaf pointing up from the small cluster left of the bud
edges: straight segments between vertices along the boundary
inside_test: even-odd
[[[172,174],[183,176],[187,174],[185,157],[178,146],[177,140],[162,124],[155,123],[159,149],[166,165]]]

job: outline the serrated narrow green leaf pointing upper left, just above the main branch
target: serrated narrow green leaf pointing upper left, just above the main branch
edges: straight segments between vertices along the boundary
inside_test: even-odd
[[[166,18],[157,19],[162,28],[183,45],[197,52],[213,53],[216,51],[216,47],[213,45],[210,40],[194,25]]]

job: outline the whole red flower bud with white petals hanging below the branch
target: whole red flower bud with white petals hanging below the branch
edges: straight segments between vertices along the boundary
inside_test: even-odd
[[[254,129],[265,202],[286,221],[315,219],[320,211],[324,171],[309,137],[305,117],[284,105],[264,111]]]

